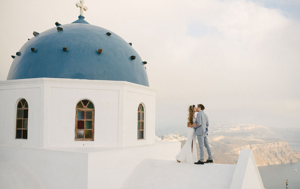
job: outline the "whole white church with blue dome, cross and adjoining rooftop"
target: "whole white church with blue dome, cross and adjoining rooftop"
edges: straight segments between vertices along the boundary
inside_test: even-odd
[[[0,188],[263,188],[251,150],[237,165],[177,163],[181,144],[155,137],[146,62],[77,6],[0,81]]]

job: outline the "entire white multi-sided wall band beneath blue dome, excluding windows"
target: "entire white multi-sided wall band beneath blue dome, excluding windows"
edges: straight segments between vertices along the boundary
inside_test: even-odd
[[[32,147],[123,147],[154,143],[156,90],[126,81],[34,78],[0,81],[5,132],[0,144]],[[15,139],[16,105],[29,104],[28,139]],[[75,141],[76,104],[95,107],[94,141]],[[137,108],[145,108],[144,139],[137,139]],[[20,143],[22,141],[22,143]]]

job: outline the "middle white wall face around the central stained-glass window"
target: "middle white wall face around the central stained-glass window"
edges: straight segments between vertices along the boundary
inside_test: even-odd
[[[118,145],[118,90],[91,89],[85,84],[77,85],[76,88],[55,85],[50,87],[49,146]],[[76,105],[83,99],[88,99],[94,104],[94,141],[75,141]]]

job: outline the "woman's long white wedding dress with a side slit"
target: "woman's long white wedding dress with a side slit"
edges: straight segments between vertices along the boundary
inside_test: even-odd
[[[196,123],[196,119],[193,119],[193,123]],[[198,161],[197,150],[196,150],[196,140],[197,136],[194,135],[195,129],[189,127],[187,129],[187,141],[176,155],[176,159],[181,162],[194,163]],[[192,143],[193,143],[193,153],[192,153]]]

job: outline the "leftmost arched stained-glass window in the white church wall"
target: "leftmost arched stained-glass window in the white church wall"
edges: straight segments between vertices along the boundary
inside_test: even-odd
[[[28,131],[28,103],[21,99],[17,105],[16,139],[27,139]]]

